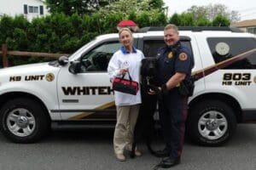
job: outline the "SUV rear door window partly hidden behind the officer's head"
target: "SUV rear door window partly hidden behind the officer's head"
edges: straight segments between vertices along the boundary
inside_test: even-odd
[[[182,44],[190,49],[191,54],[191,44],[189,41],[181,40]],[[165,47],[166,43],[163,40],[145,40],[143,42],[143,54],[145,57],[155,57],[158,53],[159,48]]]

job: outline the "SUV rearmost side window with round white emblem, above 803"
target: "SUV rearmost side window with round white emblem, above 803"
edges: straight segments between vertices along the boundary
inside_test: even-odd
[[[256,47],[253,37],[211,37],[207,42],[215,63],[235,57]],[[225,66],[223,69],[256,69],[256,54],[250,54],[245,59]]]

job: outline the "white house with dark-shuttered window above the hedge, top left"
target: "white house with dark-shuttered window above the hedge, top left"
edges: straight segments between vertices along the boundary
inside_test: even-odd
[[[0,16],[23,14],[27,20],[49,14],[43,0],[1,0]]]

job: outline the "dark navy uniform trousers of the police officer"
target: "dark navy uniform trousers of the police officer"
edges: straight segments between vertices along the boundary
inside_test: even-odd
[[[163,127],[166,149],[173,158],[181,156],[188,98],[173,90],[159,102],[160,122]]]

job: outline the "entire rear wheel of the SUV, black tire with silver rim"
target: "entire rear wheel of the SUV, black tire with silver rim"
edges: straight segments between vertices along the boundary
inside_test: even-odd
[[[201,101],[191,109],[187,131],[195,144],[219,146],[236,131],[236,116],[222,101]]]

